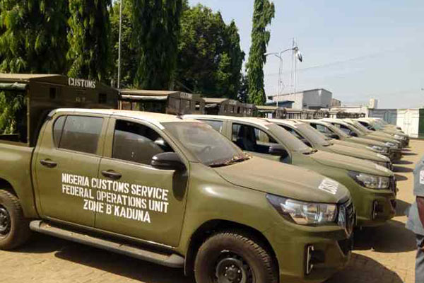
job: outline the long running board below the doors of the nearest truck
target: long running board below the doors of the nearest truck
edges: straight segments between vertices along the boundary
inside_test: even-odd
[[[157,263],[159,265],[165,265],[167,267],[184,267],[184,258],[182,258],[182,256],[180,255],[167,255],[163,253],[152,252],[149,250],[143,250],[141,248],[136,248],[134,246],[125,245],[114,241],[107,241],[102,238],[95,238],[93,236],[86,235],[83,233],[61,229],[56,226],[51,226],[41,220],[31,221],[30,229],[39,233],[47,234],[49,236],[63,238],[65,240],[74,241],[76,243],[82,243],[88,246],[93,246],[95,248],[101,248],[103,250],[109,250],[113,253],[128,255],[131,258],[146,260],[148,262]]]

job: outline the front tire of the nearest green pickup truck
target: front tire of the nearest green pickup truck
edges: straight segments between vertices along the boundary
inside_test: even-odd
[[[278,283],[269,251],[254,237],[237,231],[216,233],[201,245],[194,275],[197,283]]]

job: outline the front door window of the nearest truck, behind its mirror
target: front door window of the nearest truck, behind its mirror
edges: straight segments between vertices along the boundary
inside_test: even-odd
[[[150,165],[152,157],[173,150],[160,134],[150,127],[117,120],[112,158]]]

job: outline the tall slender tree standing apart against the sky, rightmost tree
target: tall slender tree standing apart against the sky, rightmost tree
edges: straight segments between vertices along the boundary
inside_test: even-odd
[[[264,105],[264,64],[266,62],[266,46],[271,33],[266,27],[271,24],[275,8],[269,0],[254,0],[252,45],[247,62],[247,81],[249,85],[249,102]]]

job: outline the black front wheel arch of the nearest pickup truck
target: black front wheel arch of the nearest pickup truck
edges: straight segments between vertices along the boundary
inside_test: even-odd
[[[259,241],[259,243],[261,243],[261,245],[263,245],[263,247],[266,248],[266,250],[268,250],[269,253],[271,253],[271,257],[273,258],[274,262],[276,263],[276,267],[278,268],[279,265],[278,265],[278,259],[276,257],[276,254],[274,253],[271,243],[269,243],[268,239],[264,236],[263,233],[245,224],[240,224],[240,223],[237,223],[234,221],[228,221],[228,220],[214,219],[214,220],[207,221],[206,223],[199,226],[199,228],[196,229],[196,231],[193,233],[192,237],[190,238],[189,248],[187,250],[187,255],[185,258],[185,265],[184,265],[185,275],[193,274],[194,261],[196,260],[196,254],[201,244],[204,243],[204,241],[213,233],[217,233],[220,231],[228,231],[228,230],[240,231],[242,233],[248,234],[249,236],[252,236],[254,240]]]

